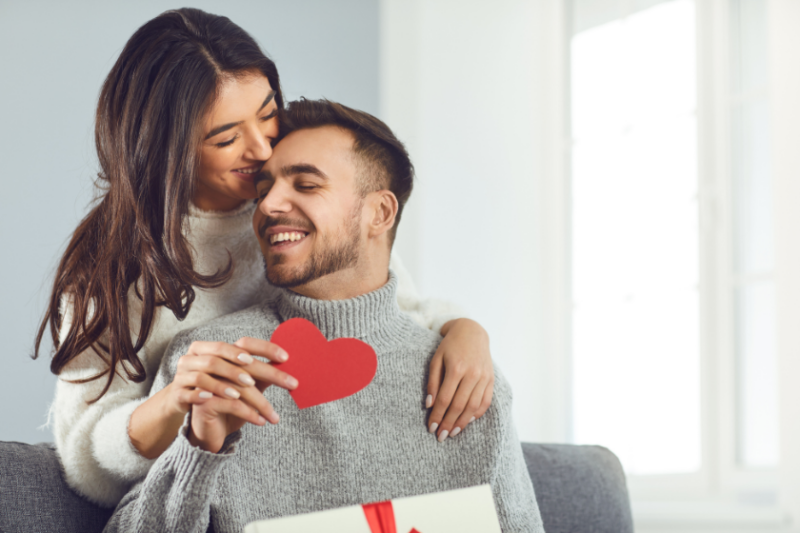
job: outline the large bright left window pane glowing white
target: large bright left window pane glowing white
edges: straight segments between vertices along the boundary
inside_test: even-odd
[[[701,462],[695,5],[572,41],[573,431],[630,474]]]

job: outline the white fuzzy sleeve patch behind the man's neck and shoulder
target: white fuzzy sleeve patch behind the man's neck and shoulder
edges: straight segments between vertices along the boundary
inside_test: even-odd
[[[433,298],[423,299],[417,292],[411,274],[396,253],[392,254],[389,268],[397,276],[397,303],[400,310],[410,315],[423,328],[439,333],[446,322],[467,316],[455,303]]]

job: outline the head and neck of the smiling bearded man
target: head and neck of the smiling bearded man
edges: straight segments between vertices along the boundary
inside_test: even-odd
[[[382,139],[354,138],[335,123],[311,126],[320,117],[305,116],[298,107],[287,114],[295,131],[256,177],[259,206],[253,225],[267,278],[321,300],[353,298],[386,283],[413,168],[388,130]],[[354,128],[386,128],[370,115],[336,110]],[[405,158],[392,158],[384,145]]]

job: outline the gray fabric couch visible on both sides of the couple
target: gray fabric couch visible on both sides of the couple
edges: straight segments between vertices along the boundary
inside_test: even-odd
[[[599,446],[523,443],[548,533],[632,533],[625,476]],[[0,442],[0,532],[94,533],[111,509],[67,488],[50,444]]]

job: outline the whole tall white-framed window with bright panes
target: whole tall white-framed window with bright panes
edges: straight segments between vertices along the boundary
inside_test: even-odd
[[[571,5],[574,439],[638,530],[778,527],[768,2]]]

